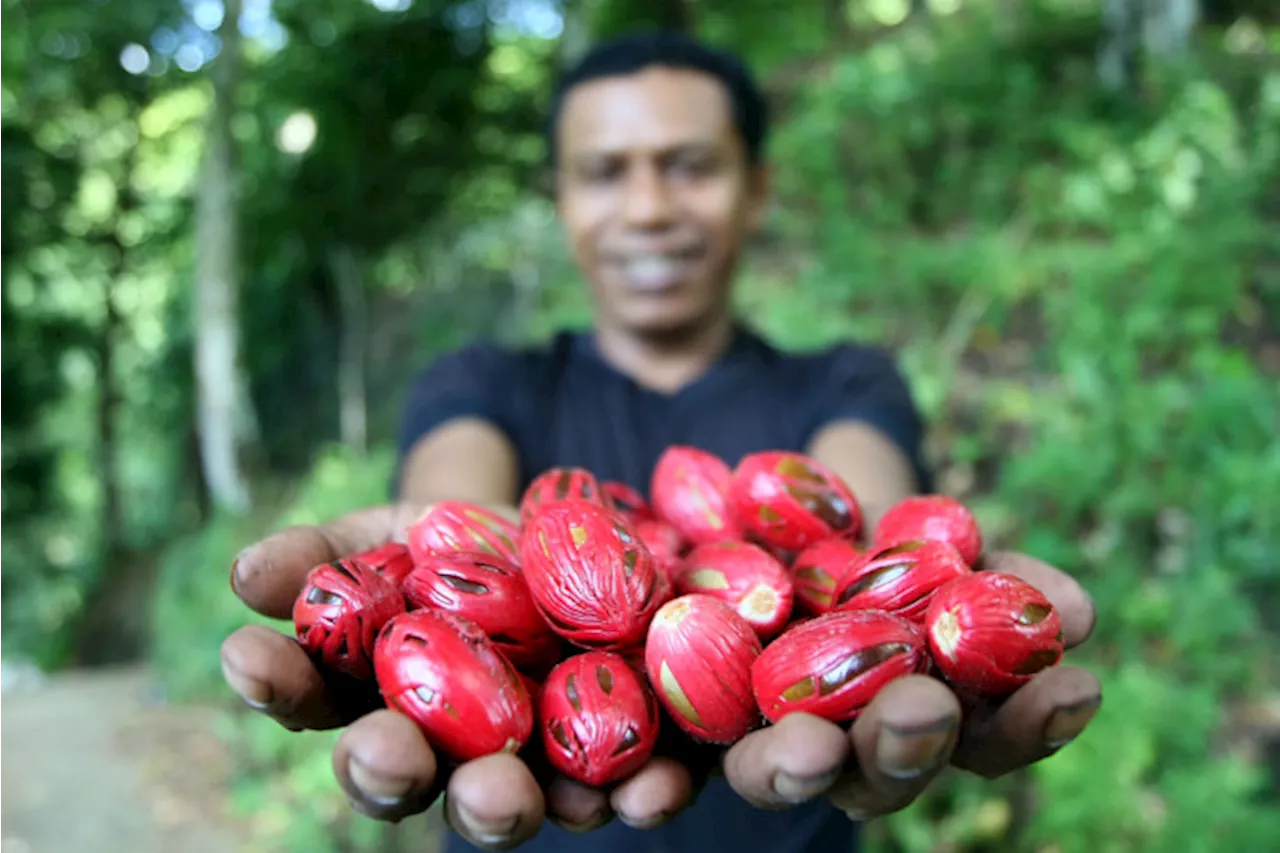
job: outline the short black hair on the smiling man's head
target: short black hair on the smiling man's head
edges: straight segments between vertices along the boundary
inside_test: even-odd
[[[742,137],[748,161],[751,165],[760,161],[768,133],[768,106],[746,63],[736,54],[712,47],[680,31],[643,29],[596,44],[561,74],[544,128],[548,160],[553,168],[557,161],[556,132],[570,91],[593,79],[634,74],[650,65],[699,70],[718,79],[728,90],[733,126]]]

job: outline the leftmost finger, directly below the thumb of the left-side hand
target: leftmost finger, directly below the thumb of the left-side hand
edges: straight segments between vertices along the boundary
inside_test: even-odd
[[[223,678],[256,711],[294,731],[346,725],[380,702],[374,686],[326,683],[292,637],[247,625],[223,640]]]

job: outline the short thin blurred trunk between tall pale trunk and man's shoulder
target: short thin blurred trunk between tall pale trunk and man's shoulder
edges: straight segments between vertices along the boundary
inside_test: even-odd
[[[338,291],[338,425],[342,441],[364,452],[369,447],[369,393],[365,377],[369,307],[360,256],[340,245],[329,254],[329,273]]]

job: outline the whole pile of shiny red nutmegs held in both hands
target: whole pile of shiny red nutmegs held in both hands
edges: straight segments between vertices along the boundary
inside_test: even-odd
[[[436,503],[316,566],[294,605],[317,666],[375,685],[447,760],[539,749],[607,786],[666,726],[732,744],[792,711],[845,724],[911,672],[998,698],[1062,657],[1050,601],[975,569],[963,503],[910,497],[863,537],[856,496],[803,453],[669,447],[648,498],[553,469],[518,508]]]

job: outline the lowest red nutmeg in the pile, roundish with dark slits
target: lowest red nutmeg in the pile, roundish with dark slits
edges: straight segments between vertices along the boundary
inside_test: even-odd
[[[557,663],[538,704],[547,760],[595,788],[626,779],[649,761],[658,719],[658,701],[644,678],[609,652]]]

